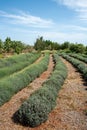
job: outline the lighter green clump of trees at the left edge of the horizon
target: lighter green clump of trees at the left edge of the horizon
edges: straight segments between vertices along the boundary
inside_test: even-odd
[[[10,37],[7,37],[3,42],[0,39],[0,54],[2,53],[22,53],[23,51],[29,51],[32,47],[30,45],[26,45],[21,41],[11,40]]]

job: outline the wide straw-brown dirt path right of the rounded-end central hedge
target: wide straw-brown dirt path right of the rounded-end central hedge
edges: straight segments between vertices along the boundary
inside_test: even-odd
[[[57,98],[55,109],[49,114],[47,122],[27,130],[87,130],[87,85],[79,72],[66,60],[68,77]],[[26,130],[26,129],[25,129]]]

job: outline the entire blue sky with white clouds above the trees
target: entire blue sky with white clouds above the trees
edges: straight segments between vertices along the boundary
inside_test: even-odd
[[[0,39],[87,45],[87,0],[0,0]]]

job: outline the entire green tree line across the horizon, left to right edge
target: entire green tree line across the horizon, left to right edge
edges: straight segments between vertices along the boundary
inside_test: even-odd
[[[51,40],[44,40],[43,37],[38,37],[34,43],[34,46],[27,45],[21,41],[11,40],[10,37],[7,37],[3,42],[0,39],[0,54],[2,53],[22,53],[22,52],[30,52],[33,49],[37,51],[42,50],[58,50],[62,52],[75,52],[75,53],[84,53],[87,54],[87,46],[78,43],[70,43],[68,41],[60,44],[57,42],[53,42]]]

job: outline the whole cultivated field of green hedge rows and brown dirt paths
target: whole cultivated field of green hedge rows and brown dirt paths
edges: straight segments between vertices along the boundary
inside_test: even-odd
[[[87,57],[33,52],[0,59],[1,130],[86,130]]]

